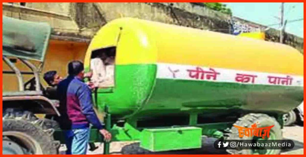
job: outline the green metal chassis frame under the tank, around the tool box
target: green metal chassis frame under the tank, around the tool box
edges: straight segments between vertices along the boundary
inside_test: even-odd
[[[111,114],[108,113],[108,107],[105,107],[105,117],[104,123],[106,126],[106,130],[110,131],[112,134],[111,141],[139,141],[140,134],[143,129],[146,128],[169,128],[169,127],[137,127],[137,120],[136,119],[128,119],[124,123],[123,127],[119,127],[117,124],[111,124]],[[172,127],[200,127],[202,128],[202,135],[207,137],[214,137],[214,138],[222,138],[223,132],[226,128],[232,127],[234,122],[218,122],[218,123],[207,123],[207,124],[197,124],[198,114],[197,113],[190,113],[189,116],[189,125],[182,126],[172,126]],[[112,126],[112,127],[111,127]],[[65,143],[65,137],[61,130],[56,130],[54,133],[54,138],[56,140],[61,141],[61,143]],[[89,143],[93,142],[104,142],[104,154],[110,154],[110,142],[105,142],[103,140],[103,136],[99,133],[99,130],[96,128],[91,128],[90,130],[90,139]]]

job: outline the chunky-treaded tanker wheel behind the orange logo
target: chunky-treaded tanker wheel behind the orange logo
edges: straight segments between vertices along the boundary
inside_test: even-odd
[[[244,136],[242,138],[239,137],[238,129],[236,127],[232,127],[230,131],[227,131],[224,135],[225,140],[282,140],[282,129],[278,121],[274,117],[270,117],[267,114],[260,113],[250,113],[235,122],[234,125],[241,127],[251,127],[252,124],[256,123],[257,127],[268,127],[274,125],[274,127],[270,130],[270,137],[267,139],[263,139],[260,137],[247,137]],[[256,149],[243,149],[243,150],[235,150],[235,149],[227,149],[226,150],[230,154],[280,154],[280,149],[274,150],[256,150]]]

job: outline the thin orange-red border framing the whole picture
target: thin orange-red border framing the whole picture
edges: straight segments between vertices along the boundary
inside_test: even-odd
[[[11,0],[7,0],[7,1],[3,1],[1,0],[1,2],[16,2],[16,1],[11,1]],[[54,2],[52,0],[38,0],[38,1],[35,1],[35,0],[23,0],[22,2]],[[84,0],[64,0],[64,1],[61,1],[61,2],[84,2]],[[113,0],[113,1],[110,1],[110,0],[88,0],[87,2],[203,2],[203,0],[164,0],[164,1],[158,1],[158,0]],[[216,0],[206,0],[205,2],[220,2],[220,1],[216,1]],[[245,0],[222,0],[221,2],[246,2]],[[247,2],[304,2],[303,0],[293,0],[293,1],[290,1],[290,0],[283,0],[283,1],[280,1],[280,0],[252,0],[252,1],[247,1]],[[305,4],[304,4],[304,8],[305,8]],[[2,13],[2,3],[1,3],[1,10],[0,12]],[[304,14],[304,12],[303,12]],[[304,18],[305,18],[305,14],[304,14]],[[1,16],[1,21],[2,21],[2,16]],[[305,22],[304,22],[305,24]],[[1,22],[1,36],[2,36],[2,22]],[[305,28],[305,26],[304,26]],[[305,36],[305,33],[304,33],[304,36]],[[1,40],[1,46],[2,46],[2,39]],[[305,41],[305,40],[304,40]],[[1,55],[2,55],[2,50],[1,50]],[[0,64],[0,67],[2,68],[2,62]],[[305,64],[304,64],[304,67],[305,67]],[[305,72],[305,70],[304,70]],[[3,81],[2,81],[2,73],[1,73],[1,84],[3,84]],[[2,86],[0,87],[1,89],[1,95],[2,95]],[[305,93],[304,93],[304,97],[305,97]],[[2,97],[0,98],[1,99],[1,106],[2,106]],[[2,115],[2,107],[0,108],[1,110],[1,115]],[[305,112],[305,110],[304,110]],[[306,124],[306,122],[304,121],[304,125]],[[1,126],[2,126],[2,121],[1,121]],[[305,128],[304,128],[304,134],[305,134]],[[1,127],[1,133],[2,133],[2,127]],[[1,138],[1,141],[2,141],[2,137]],[[0,147],[2,148],[2,143],[0,144]],[[305,138],[304,138],[304,147],[305,147]],[[304,148],[304,154],[305,154],[305,148]],[[5,155],[5,156],[14,156],[14,155]],[[24,156],[32,156],[32,155],[24,155]],[[43,156],[54,156],[54,155],[43,155]],[[67,155],[65,155],[67,156]],[[94,155],[94,156],[98,156],[98,155]],[[126,156],[142,156],[142,155],[126,155]],[[159,157],[166,157],[166,156],[176,156],[176,155],[145,155],[145,156],[159,156]],[[187,155],[179,155],[179,156],[187,156]],[[200,157],[200,156],[204,156],[204,155],[188,155],[189,157]],[[215,156],[227,156],[227,155],[205,155],[205,157],[215,157]],[[235,155],[235,156],[238,156],[238,155]],[[239,156],[251,156],[251,155],[239,155]],[[260,156],[267,156],[267,155],[260,155]],[[269,156],[269,155],[268,155]],[[275,155],[275,156],[286,156],[286,155]],[[304,156],[304,155],[287,155],[287,156]]]

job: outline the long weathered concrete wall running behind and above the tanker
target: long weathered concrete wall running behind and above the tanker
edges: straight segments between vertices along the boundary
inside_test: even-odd
[[[18,5],[16,3],[15,5]],[[99,28],[107,22],[120,17],[135,17],[163,23],[177,24],[198,29],[217,32],[230,32],[230,19],[234,23],[248,30],[264,30],[266,26],[253,23],[238,17],[207,9],[199,3],[26,3],[26,7],[53,12],[62,16],[38,16],[33,12],[8,12],[3,7],[4,15],[13,15],[16,18],[27,20],[40,20],[49,22],[55,33],[74,33],[91,38]],[[67,18],[69,17],[69,18]],[[278,30],[271,29],[266,32],[266,39],[279,42]],[[300,51],[304,48],[304,41],[292,34],[285,34],[284,43]]]

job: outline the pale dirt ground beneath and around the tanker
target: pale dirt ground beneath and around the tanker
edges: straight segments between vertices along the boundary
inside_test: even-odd
[[[294,148],[292,150],[284,150],[281,154],[303,154],[304,152],[304,127],[289,126],[283,129],[284,139],[294,141]],[[166,151],[166,152],[149,152],[139,147],[138,142],[112,142],[110,144],[111,154],[228,154],[225,150],[217,150],[213,143],[215,138],[203,137],[202,148],[181,151]],[[89,151],[87,154],[103,154],[103,144],[95,143],[97,148],[95,151]],[[65,154],[65,145],[60,148],[60,154]]]

